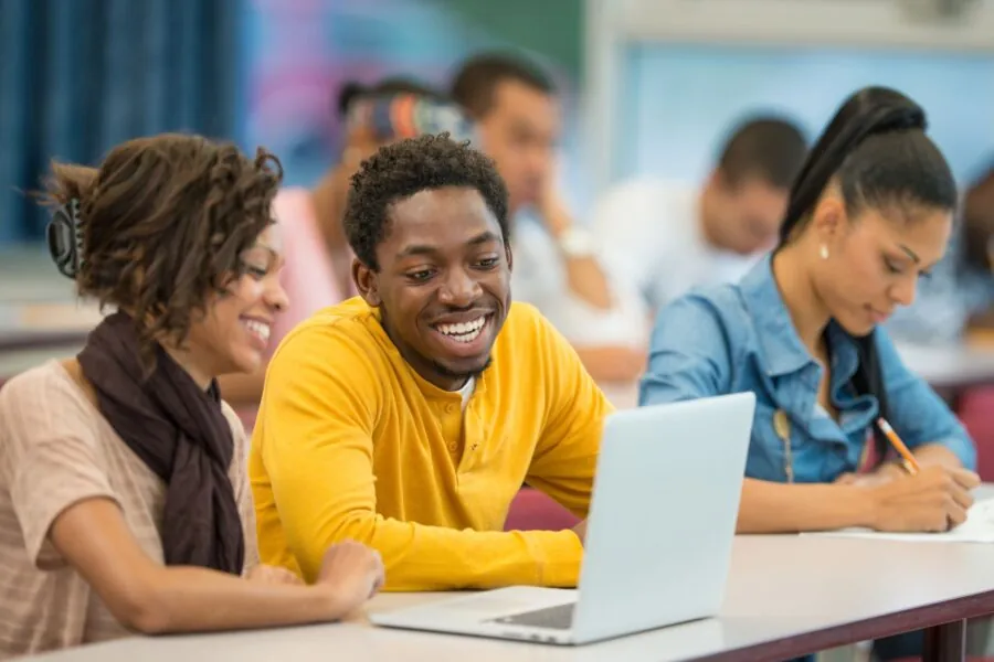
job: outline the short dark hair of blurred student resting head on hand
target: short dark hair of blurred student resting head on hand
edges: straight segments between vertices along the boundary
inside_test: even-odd
[[[531,62],[509,53],[482,53],[463,63],[452,81],[452,98],[474,118],[494,107],[494,93],[505,81],[521,83],[542,94],[556,94],[556,85]]]

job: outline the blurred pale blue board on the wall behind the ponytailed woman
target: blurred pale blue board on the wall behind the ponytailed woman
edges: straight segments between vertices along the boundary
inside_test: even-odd
[[[625,49],[614,180],[698,180],[726,131],[772,111],[813,139],[843,99],[865,85],[911,96],[956,178],[994,158],[994,53],[902,49],[637,43]]]

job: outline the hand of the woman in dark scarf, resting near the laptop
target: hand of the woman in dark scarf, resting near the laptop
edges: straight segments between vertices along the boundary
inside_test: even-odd
[[[383,559],[376,549],[355,541],[328,547],[315,586],[334,596],[335,611],[347,615],[362,606],[383,586]]]

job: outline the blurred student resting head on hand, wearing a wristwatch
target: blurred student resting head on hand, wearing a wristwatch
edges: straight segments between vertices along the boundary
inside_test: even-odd
[[[518,57],[480,54],[459,67],[452,96],[507,183],[515,298],[565,335],[595,380],[634,380],[645,366],[647,317],[633,290],[610,280],[595,242],[557,190],[561,119],[552,81]]]

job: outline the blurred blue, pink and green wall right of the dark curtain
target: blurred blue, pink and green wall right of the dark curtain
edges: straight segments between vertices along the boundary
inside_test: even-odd
[[[563,180],[577,190],[582,14],[580,0],[247,0],[244,141],[279,153],[289,183],[313,183],[339,157],[331,108],[345,82],[409,74],[447,86],[467,55],[517,50],[563,89]]]

